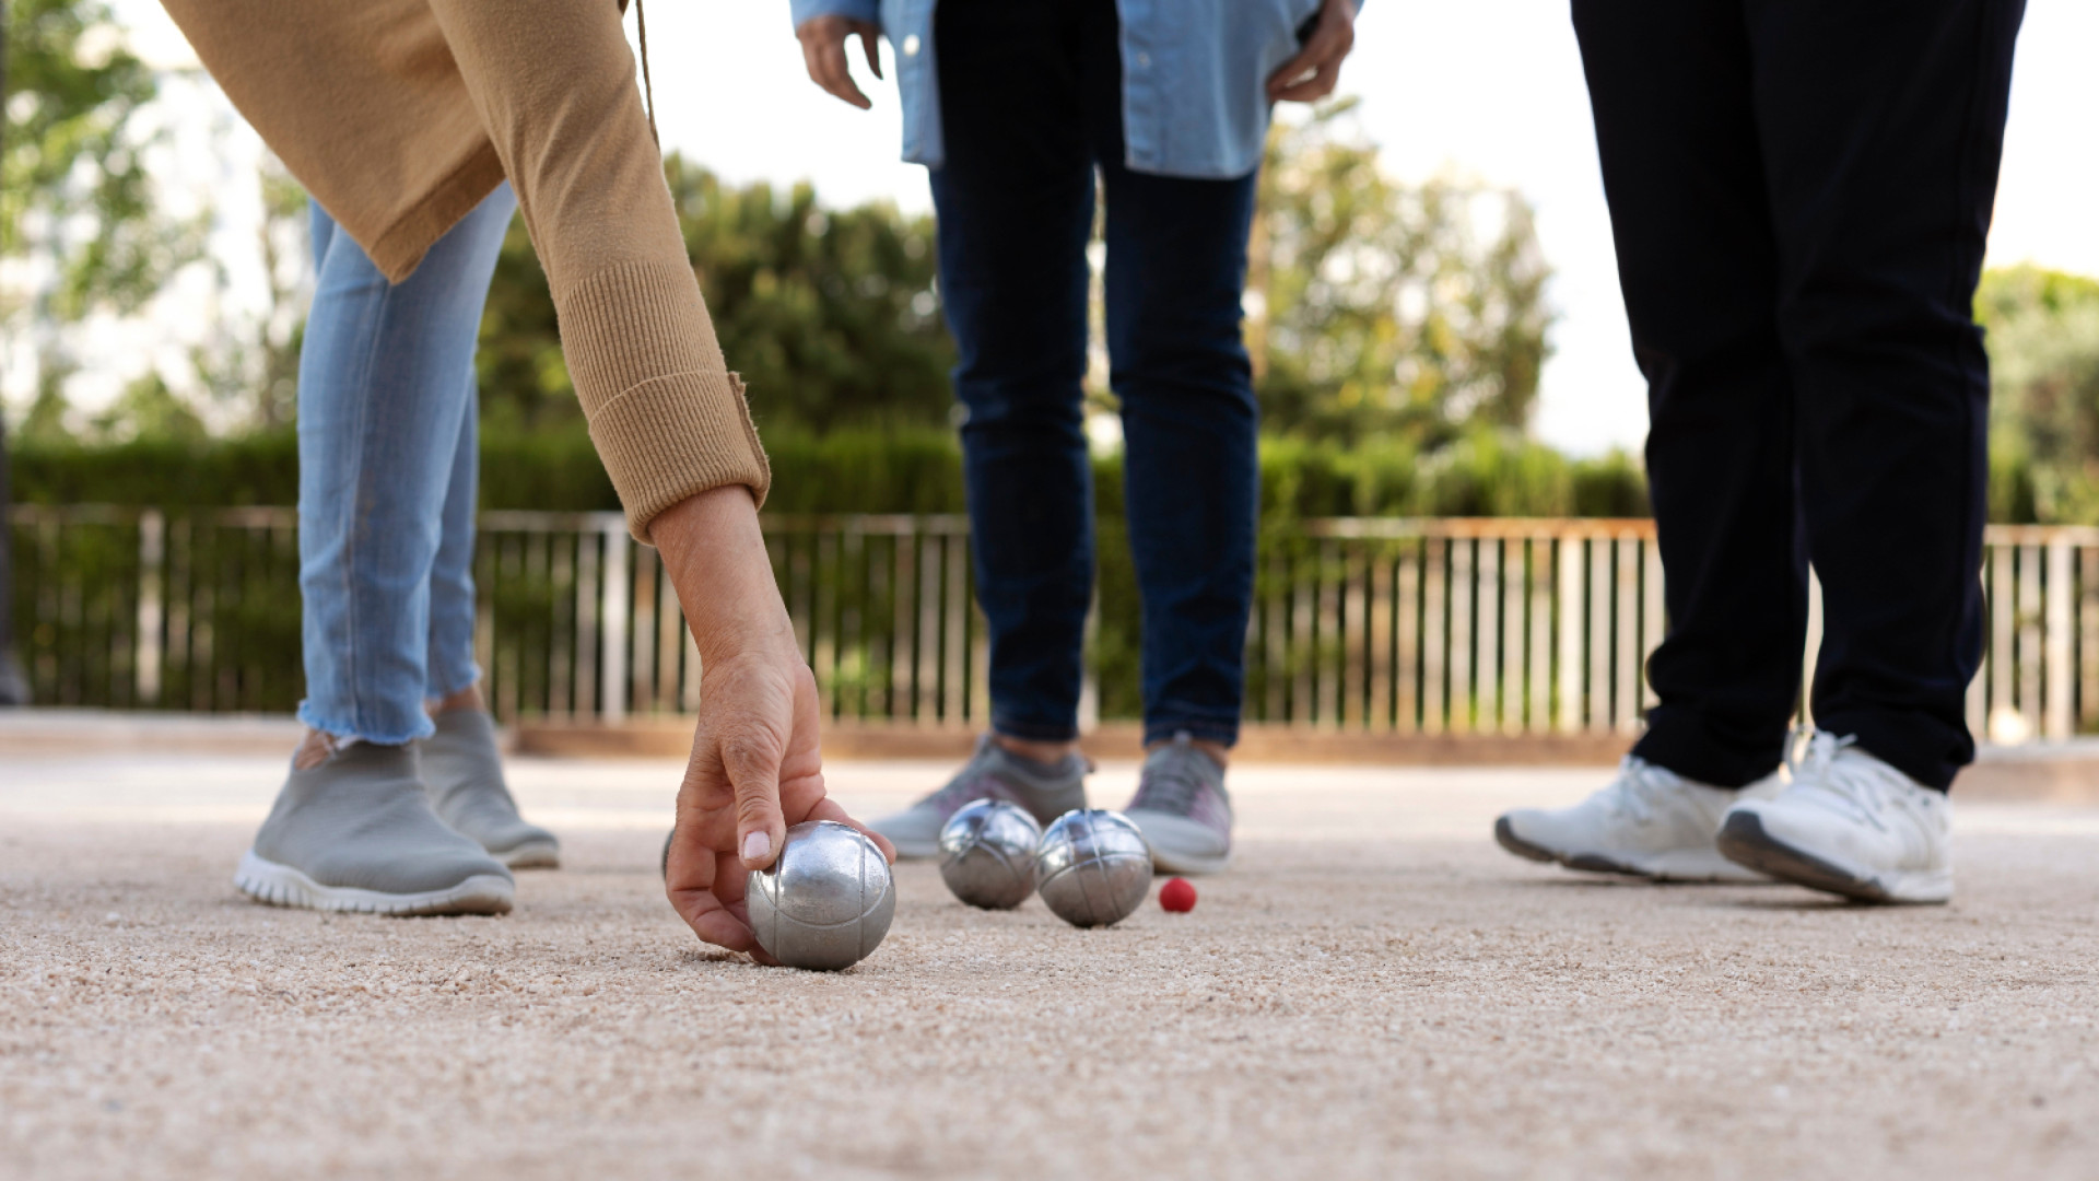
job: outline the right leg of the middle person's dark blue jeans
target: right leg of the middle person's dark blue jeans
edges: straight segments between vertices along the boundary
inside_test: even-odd
[[[1255,174],[1194,181],[1125,168],[1115,8],[1087,13],[1110,385],[1123,403],[1129,551],[1144,599],[1144,742],[1188,733],[1232,746],[1259,511],[1259,414],[1238,332]]]

